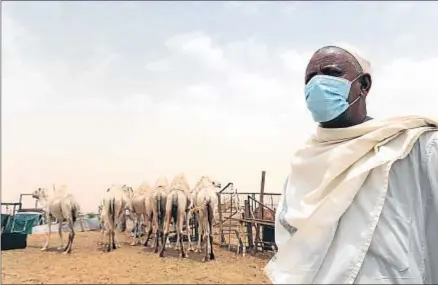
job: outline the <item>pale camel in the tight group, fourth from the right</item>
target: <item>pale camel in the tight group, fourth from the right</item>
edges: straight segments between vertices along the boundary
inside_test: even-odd
[[[148,209],[146,208],[146,200],[149,198],[151,192],[152,192],[152,188],[149,186],[148,183],[144,182],[140,185],[139,188],[137,188],[133,192],[131,201],[129,202],[128,209],[130,213],[135,216],[134,237],[131,243],[132,246],[138,244],[138,237],[137,237],[138,228],[142,224],[148,226],[149,213],[148,213]]]

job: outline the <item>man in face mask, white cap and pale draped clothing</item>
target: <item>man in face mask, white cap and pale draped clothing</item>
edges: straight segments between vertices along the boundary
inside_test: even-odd
[[[319,49],[305,75],[316,134],[276,214],[274,284],[438,282],[438,123],[367,116],[368,61]],[[413,94],[415,95],[415,94]]]

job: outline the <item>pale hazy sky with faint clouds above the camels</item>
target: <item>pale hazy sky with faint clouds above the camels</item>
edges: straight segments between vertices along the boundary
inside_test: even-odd
[[[371,61],[369,115],[437,115],[438,2],[2,2],[2,201],[185,172],[280,192],[323,45]],[[26,205],[27,206],[27,205]]]

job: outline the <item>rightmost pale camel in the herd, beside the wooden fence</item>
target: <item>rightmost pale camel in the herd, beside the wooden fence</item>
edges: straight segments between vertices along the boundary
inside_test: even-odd
[[[192,191],[193,203],[191,211],[195,212],[199,225],[196,252],[201,251],[201,242],[203,240],[205,243],[203,262],[215,259],[213,252],[213,221],[214,209],[218,203],[217,188],[220,187],[220,183],[212,181],[207,176],[202,176]]]

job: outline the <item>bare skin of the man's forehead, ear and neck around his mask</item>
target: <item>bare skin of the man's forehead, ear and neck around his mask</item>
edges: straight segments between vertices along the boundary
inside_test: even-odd
[[[358,97],[360,98],[335,119],[321,122],[321,127],[347,128],[371,119],[367,117],[365,100],[371,89],[371,76],[362,72],[351,54],[337,47],[327,47],[317,51],[307,65],[305,83],[307,84],[315,75],[342,77],[350,82],[360,76],[351,85],[348,102],[351,104]]]

